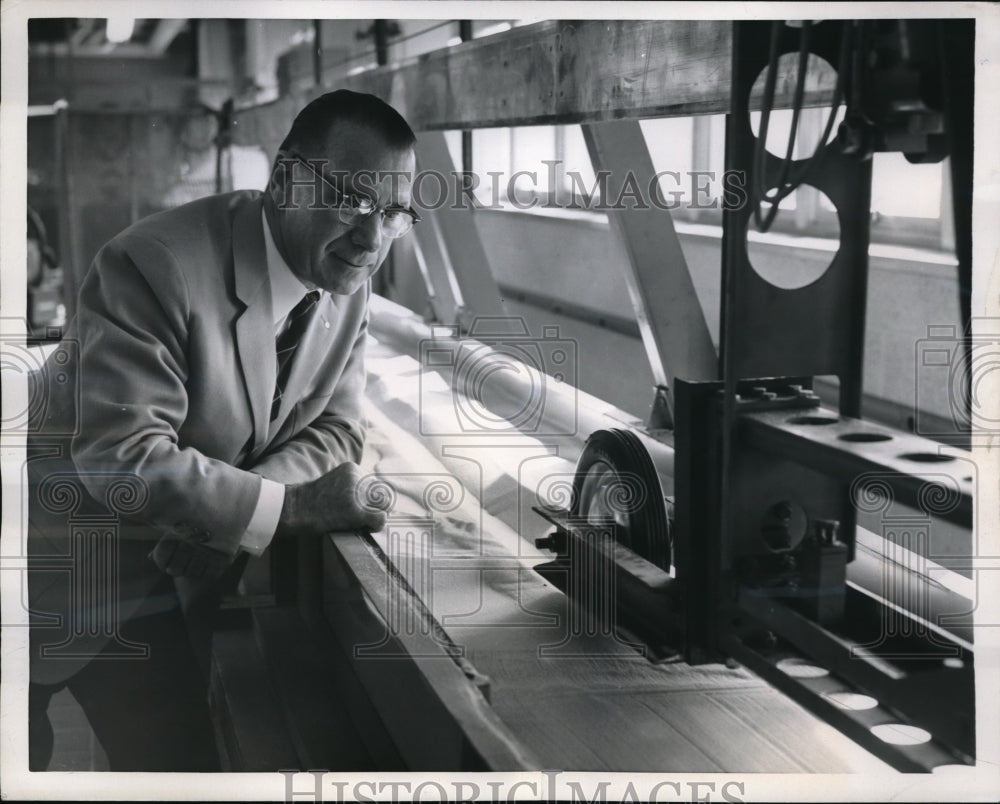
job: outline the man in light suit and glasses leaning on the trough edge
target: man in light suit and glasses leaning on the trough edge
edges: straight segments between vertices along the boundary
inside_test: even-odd
[[[112,770],[214,769],[211,617],[244,556],[384,525],[356,493],[364,341],[370,278],[419,220],[414,142],[374,96],[328,93],[263,194],[159,213],[95,258],[29,440],[32,769],[64,686]]]

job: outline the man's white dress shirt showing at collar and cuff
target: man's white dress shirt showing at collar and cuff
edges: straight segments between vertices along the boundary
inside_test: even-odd
[[[271,237],[271,227],[267,225],[264,210],[261,209],[261,223],[264,227],[264,250],[267,256],[267,275],[271,283],[271,311],[274,318],[274,337],[282,333],[288,323],[288,314],[309,288],[302,284],[292,269],[288,267]],[[322,292],[322,291],[321,291]],[[270,426],[274,426],[271,422]],[[246,533],[240,541],[240,547],[254,556],[261,555],[274,538],[281,517],[281,508],[285,503],[285,487],[281,483],[268,480],[260,481],[260,496],[254,509]]]

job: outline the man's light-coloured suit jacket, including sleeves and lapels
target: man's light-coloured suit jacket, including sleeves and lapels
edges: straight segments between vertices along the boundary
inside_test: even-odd
[[[366,286],[323,295],[272,426],[276,358],[260,193],[158,213],[98,253],[31,395],[31,605],[39,622],[44,613],[62,617],[70,654],[114,638],[101,623],[138,605],[156,578],[146,556],[164,534],[233,556],[261,477],[298,483],[360,460],[369,294]],[[92,523],[119,541],[119,588],[92,601],[105,606],[96,620],[74,625],[87,615],[73,610],[81,590],[93,578],[112,583],[99,570],[111,548],[95,546]]]

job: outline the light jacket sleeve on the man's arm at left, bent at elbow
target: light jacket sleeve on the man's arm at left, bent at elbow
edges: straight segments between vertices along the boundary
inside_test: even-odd
[[[125,235],[106,245],[80,290],[80,428],[72,457],[104,500],[115,478],[138,479],[135,516],[234,555],[260,477],[178,444],[187,414],[190,302],[170,250]]]

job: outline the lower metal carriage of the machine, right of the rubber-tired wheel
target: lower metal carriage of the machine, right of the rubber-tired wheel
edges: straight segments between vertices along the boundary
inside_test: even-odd
[[[906,461],[897,453],[936,454],[936,444],[927,439],[879,428],[884,442],[845,441],[841,436],[874,428],[820,408],[794,386],[788,379],[741,383],[736,427],[728,437],[721,426],[724,385],[677,386],[674,544],[687,612],[686,658],[732,656],[746,663],[899,770],[971,762],[971,634],[937,625],[943,612],[936,607],[947,609],[955,601],[934,600],[925,578],[888,559],[879,571],[859,557],[867,583],[852,582],[859,577],[847,564],[855,554],[853,528],[840,538],[822,536],[823,523],[837,521],[844,510],[840,478],[856,478],[856,498],[884,491],[904,504],[920,501],[925,530],[932,520],[971,529],[970,484],[947,463],[936,464],[933,473],[903,469]],[[728,451],[726,441],[732,442]],[[857,485],[866,477],[871,487]],[[798,544],[773,549],[762,522],[782,500],[803,507],[806,531]],[[892,599],[895,587],[905,587],[895,590],[901,599]],[[829,674],[822,682],[796,678],[778,667],[787,658]],[[875,697],[878,706],[852,712],[831,704],[830,692],[855,689]],[[934,739],[898,746],[870,731],[900,722],[924,728]]]

